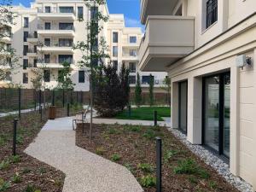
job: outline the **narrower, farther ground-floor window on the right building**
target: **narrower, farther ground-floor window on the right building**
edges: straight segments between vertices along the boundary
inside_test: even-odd
[[[178,128],[187,133],[188,82],[178,84]]]

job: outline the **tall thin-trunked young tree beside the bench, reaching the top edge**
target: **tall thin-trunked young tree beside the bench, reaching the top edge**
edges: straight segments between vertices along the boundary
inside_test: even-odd
[[[106,4],[105,0],[85,1],[88,9],[90,9],[90,21],[86,24],[86,41],[78,42],[74,45],[74,49],[82,52],[82,59],[79,61],[80,67],[88,67],[90,73],[90,140],[93,123],[93,95],[94,95],[94,74],[99,64],[103,65],[104,60],[109,58],[108,45],[106,39],[102,36],[103,24],[108,22],[108,15],[104,15],[99,10]],[[83,20],[80,20],[83,21]]]

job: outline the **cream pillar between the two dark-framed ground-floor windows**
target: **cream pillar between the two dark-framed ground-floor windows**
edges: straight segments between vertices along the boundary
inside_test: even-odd
[[[188,79],[188,133],[190,143],[201,144],[201,104],[202,80],[191,77]]]

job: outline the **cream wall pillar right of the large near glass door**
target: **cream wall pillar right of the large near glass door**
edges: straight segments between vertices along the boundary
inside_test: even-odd
[[[230,172],[236,176],[239,176],[240,153],[239,87],[239,68],[234,65],[230,69]]]

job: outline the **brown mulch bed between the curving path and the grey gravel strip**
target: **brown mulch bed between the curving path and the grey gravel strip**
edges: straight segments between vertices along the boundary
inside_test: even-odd
[[[143,177],[149,176],[153,181],[155,179],[154,138],[160,136],[163,141],[162,191],[238,192],[210,166],[191,153],[165,127],[93,125],[91,143],[88,131],[90,125],[85,124],[84,127],[84,133],[82,125],[76,131],[77,145],[126,166],[141,185],[145,185]],[[145,163],[146,166],[143,167],[142,164]],[[147,192],[156,191],[155,183],[150,184],[153,186],[143,186],[143,189]]]

